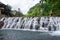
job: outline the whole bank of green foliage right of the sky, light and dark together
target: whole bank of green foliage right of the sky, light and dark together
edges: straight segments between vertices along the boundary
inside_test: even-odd
[[[30,8],[27,16],[49,16],[60,13],[60,0],[40,0],[35,6]]]

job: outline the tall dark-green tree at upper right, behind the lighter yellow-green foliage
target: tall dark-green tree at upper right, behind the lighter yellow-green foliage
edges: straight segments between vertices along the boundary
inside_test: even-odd
[[[54,15],[57,10],[60,10],[59,9],[60,0],[41,0],[40,2],[42,2],[41,6],[42,6],[42,9],[44,9],[43,11],[48,12],[49,15],[51,15],[51,14]],[[46,14],[46,13],[44,13],[44,14]]]

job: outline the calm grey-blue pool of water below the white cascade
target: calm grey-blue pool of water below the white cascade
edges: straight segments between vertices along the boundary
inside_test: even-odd
[[[60,40],[60,36],[51,36],[45,32],[0,30],[0,40]]]

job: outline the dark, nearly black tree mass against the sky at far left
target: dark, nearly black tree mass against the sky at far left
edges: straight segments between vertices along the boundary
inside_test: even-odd
[[[3,15],[12,16],[12,14],[10,13],[10,11],[11,11],[11,6],[5,5],[5,4],[3,4],[3,3],[0,2],[0,7],[4,8],[4,10],[1,11],[1,13],[2,13]]]

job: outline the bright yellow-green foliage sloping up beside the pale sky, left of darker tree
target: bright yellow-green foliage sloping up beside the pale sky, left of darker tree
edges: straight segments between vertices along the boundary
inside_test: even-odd
[[[40,4],[38,3],[38,4],[36,4],[36,6],[34,6],[34,7],[32,7],[31,9],[30,9],[30,11],[28,11],[28,16],[39,16],[39,15],[41,15],[40,13]]]

